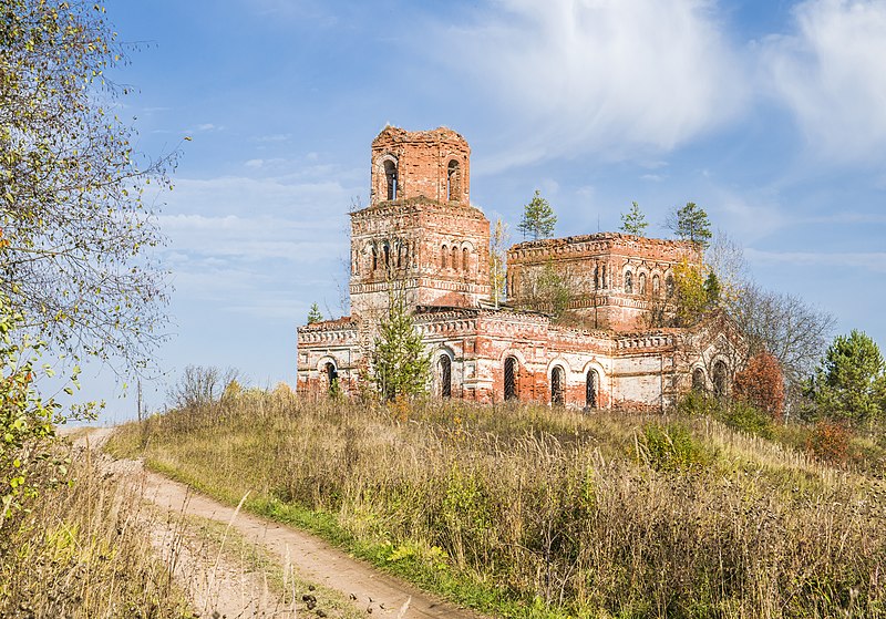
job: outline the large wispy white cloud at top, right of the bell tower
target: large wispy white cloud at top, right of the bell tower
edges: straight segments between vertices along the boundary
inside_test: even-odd
[[[484,167],[670,151],[733,117],[741,62],[702,0],[501,0],[442,53],[523,127]]]

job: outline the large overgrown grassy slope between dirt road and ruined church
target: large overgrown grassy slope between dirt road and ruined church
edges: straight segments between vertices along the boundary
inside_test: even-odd
[[[884,484],[709,417],[250,390],[109,448],[492,613],[886,616]]]

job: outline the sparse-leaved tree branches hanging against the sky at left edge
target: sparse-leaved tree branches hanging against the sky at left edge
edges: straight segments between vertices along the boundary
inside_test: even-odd
[[[56,352],[137,369],[162,339],[167,288],[143,196],[168,188],[174,162],[136,154],[114,115],[127,91],[105,74],[123,62],[101,4],[3,2],[0,286]]]

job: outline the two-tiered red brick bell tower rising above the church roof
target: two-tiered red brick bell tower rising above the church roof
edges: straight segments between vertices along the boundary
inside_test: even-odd
[[[490,223],[471,206],[471,147],[452,130],[385,127],[372,141],[369,206],[351,214],[351,313],[391,290],[406,305],[476,307],[490,296]]]

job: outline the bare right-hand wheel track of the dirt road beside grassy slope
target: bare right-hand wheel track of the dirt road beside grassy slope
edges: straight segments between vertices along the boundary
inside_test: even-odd
[[[90,448],[100,447],[113,429],[95,429],[79,439],[81,444]],[[297,529],[258,518],[243,512],[235,513],[234,507],[223,505],[204,495],[195,494],[187,486],[173,482],[167,477],[144,471],[141,463],[134,461],[109,461],[107,467],[117,474],[128,475],[144,487],[144,496],[157,506],[176,514],[194,515],[224,524],[230,524],[248,541],[267,548],[279,558],[281,565],[291,565],[302,578],[318,585],[341,591],[350,603],[364,616],[395,618],[452,618],[481,619],[472,611],[444,602],[415,587],[392,576],[373,569],[368,564],[357,560],[324,541]],[[258,599],[265,592],[261,585],[256,584],[254,592]],[[240,594],[239,598],[243,599]],[[248,597],[248,595],[246,596]],[[251,612],[269,616],[268,612]],[[244,613],[243,607],[236,615]],[[302,610],[301,616],[306,615]],[[323,616],[323,615],[320,615]]]

